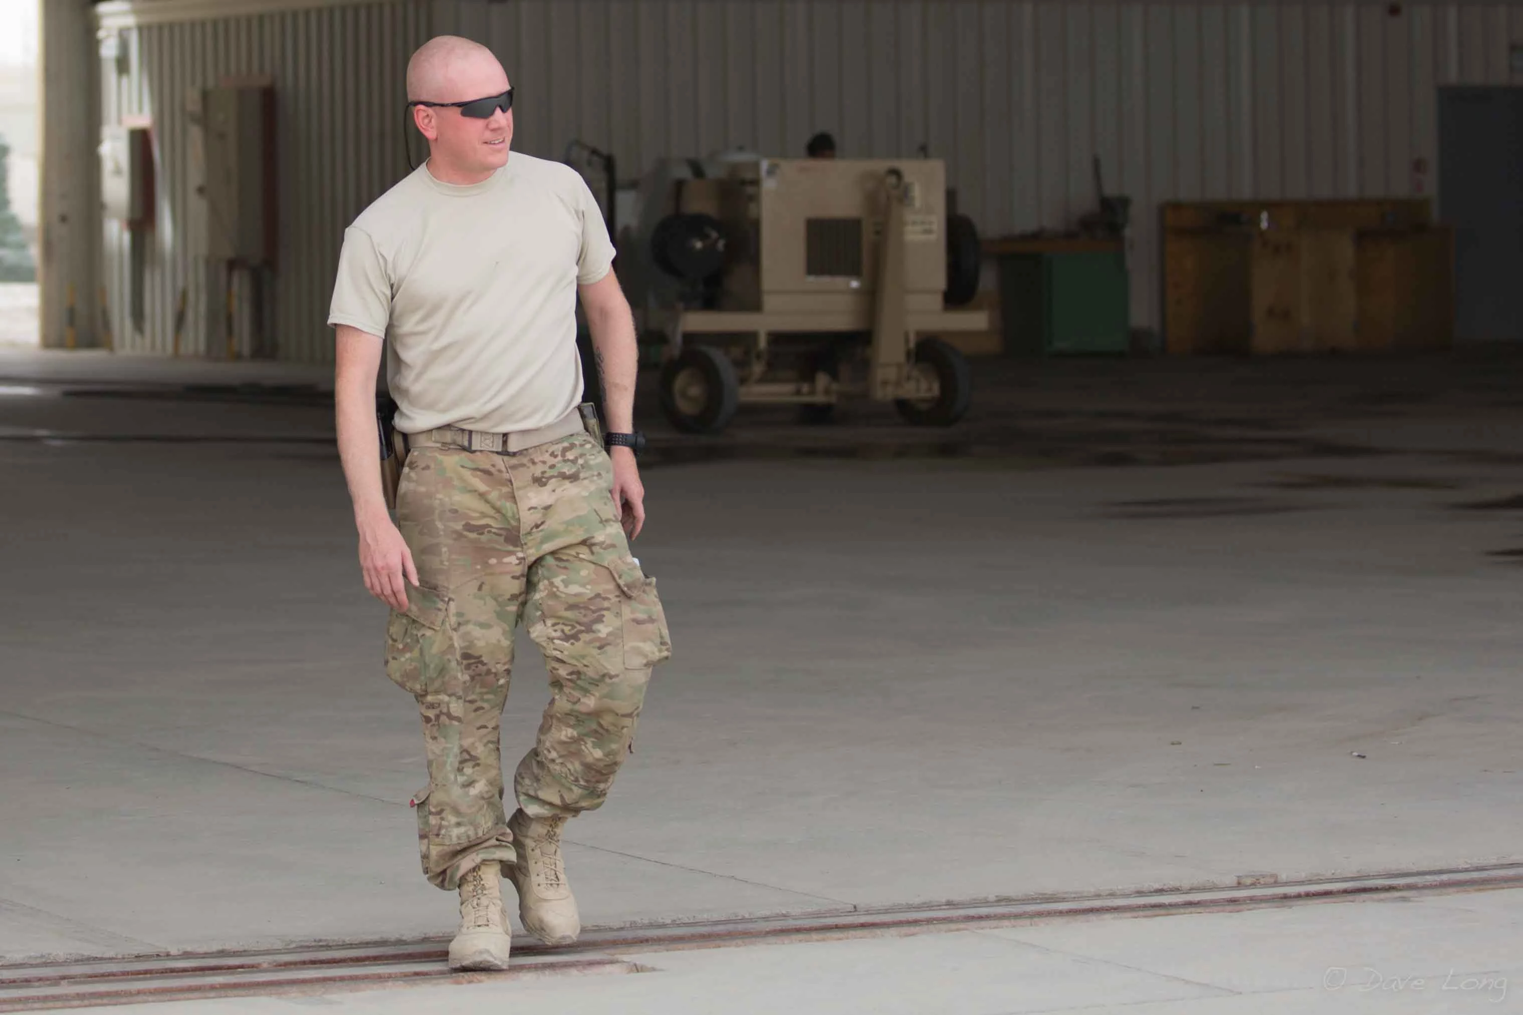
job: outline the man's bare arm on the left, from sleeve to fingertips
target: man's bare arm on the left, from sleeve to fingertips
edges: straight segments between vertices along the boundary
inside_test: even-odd
[[[387,606],[407,609],[407,581],[417,584],[417,569],[402,534],[391,522],[381,490],[381,441],[376,432],[376,376],[384,342],[356,327],[338,326],[334,365],[334,412],[338,457],[355,505],[359,533],[359,568],[366,587]]]

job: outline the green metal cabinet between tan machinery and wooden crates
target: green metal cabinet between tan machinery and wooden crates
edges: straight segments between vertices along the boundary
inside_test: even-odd
[[[1125,353],[1130,306],[1121,251],[1001,257],[999,313],[1010,355]]]

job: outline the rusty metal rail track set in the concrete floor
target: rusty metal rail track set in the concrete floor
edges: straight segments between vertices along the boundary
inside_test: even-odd
[[[1276,883],[1270,878],[1272,875],[1244,875],[1240,880],[1243,883],[1232,887],[1129,895],[1045,895],[970,904],[900,905],[807,916],[589,930],[582,940],[567,948],[547,948],[519,934],[513,945],[513,963],[507,972],[452,972],[445,963],[448,939],[12,963],[0,965],[0,1012],[643,972],[649,966],[627,956],[1049,921],[1235,912],[1415,892],[1514,889],[1523,887],[1523,864],[1293,883]]]

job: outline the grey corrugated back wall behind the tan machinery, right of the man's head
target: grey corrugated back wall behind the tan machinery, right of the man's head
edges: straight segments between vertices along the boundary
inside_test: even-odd
[[[1436,88],[1509,84],[1523,6],[1011,0],[439,0],[519,88],[515,145],[623,172],[742,145],[949,161],[984,234],[1130,195],[1133,318],[1159,320],[1170,199],[1409,195],[1436,184]],[[576,58],[570,58],[576,53]],[[1415,173],[1415,160],[1427,173]],[[623,175],[623,173],[621,173]]]

